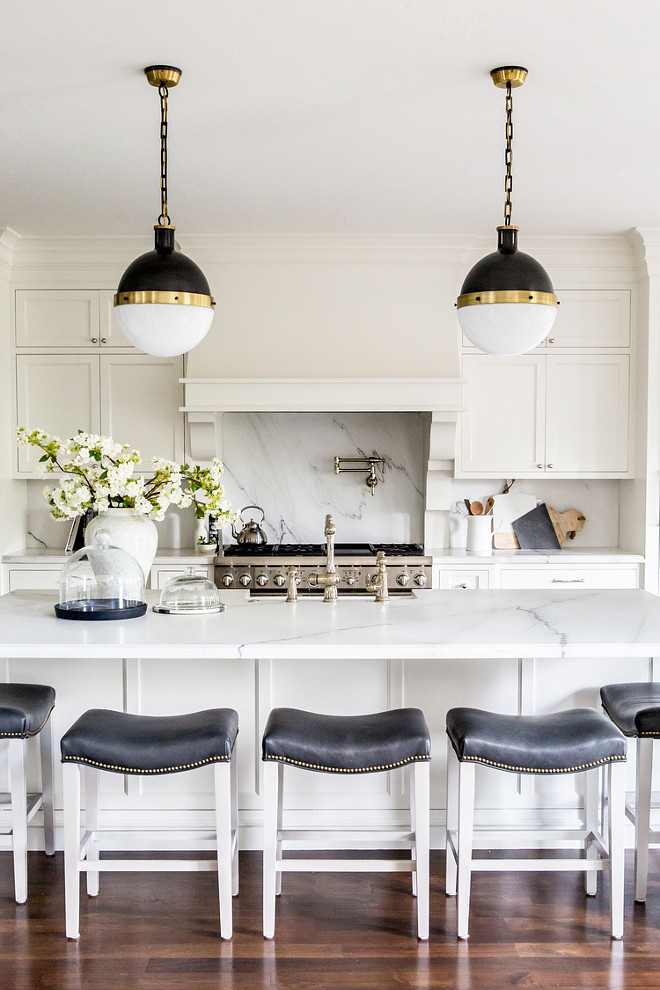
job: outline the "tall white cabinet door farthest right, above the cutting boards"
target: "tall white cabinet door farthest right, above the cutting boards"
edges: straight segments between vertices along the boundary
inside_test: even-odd
[[[546,385],[549,472],[629,470],[629,358],[553,354]]]

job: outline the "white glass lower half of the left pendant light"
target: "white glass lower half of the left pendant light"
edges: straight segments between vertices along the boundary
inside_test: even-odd
[[[115,315],[131,344],[157,357],[192,350],[213,322],[210,306],[175,303],[126,303],[115,306]]]

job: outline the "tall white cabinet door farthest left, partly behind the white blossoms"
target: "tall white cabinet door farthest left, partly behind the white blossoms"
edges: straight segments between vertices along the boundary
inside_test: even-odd
[[[99,359],[88,354],[19,354],[16,357],[17,426],[59,437],[98,433]],[[18,447],[18,473],[34,474],[40,451]]]

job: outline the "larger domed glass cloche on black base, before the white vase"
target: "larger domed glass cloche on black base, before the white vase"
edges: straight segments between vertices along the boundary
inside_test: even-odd
[[[55,606],[60,619],[133,619],[146,611],[141,566],[130,553],[111,546],[104,530],[62,568]]]

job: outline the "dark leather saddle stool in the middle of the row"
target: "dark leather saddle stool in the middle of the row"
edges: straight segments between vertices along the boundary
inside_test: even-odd
[[[310,871],[404,870],[413,875],[417,895],[417,937],[429,937],[429,761],[431,740],[428,726],[417,708],[400,708],[372,715],[319,715],[297,708],[275,708],[270,713],[263,736],[264,761],[264,935],[275,934],[275,898],[281,893],[282,873],[295,869]],[[284,767],[313,773],[383,773],[406,768],[410,774],[410,827],[404,830],[328,830],[313,814],[308,829],[282,827],[282,784]],[[288,859],[284,843],[310,838],[350,839],[356,854],[349,859]],[[409,860],[387,856],[378,860],[361,858],[359,843],[383,841],[405,843]],[[307,842],[308,844],[308,842]]]

